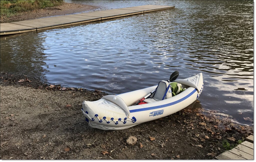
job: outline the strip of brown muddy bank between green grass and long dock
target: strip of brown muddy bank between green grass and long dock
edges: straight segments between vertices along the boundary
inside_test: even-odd
[[[99,6],[92,6],[92,5],[82,5],[82,4],[74,4],[74,3],[63,3],[60,6],[56,6],[60,8],[58,9],[36,9],[34,11],[28,12],[21,12],[14,16],[3,16],[1,17],[0,22],[14,22],[14,21],[22,21],[22,20],[30,20],[30,19],[37,19],[37,18],[44,18],[50,16],[60,16],[60,15],[69,15],[74,13],[81,13],[81,12],[89,12],[94,11],[96,9],[100,9]]]

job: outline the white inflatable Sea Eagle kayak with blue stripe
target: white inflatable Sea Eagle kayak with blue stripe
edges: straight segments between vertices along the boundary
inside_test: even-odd
[[[82,113],[92,128],[121,130],[176,113],[200,96],[204,84],[202,73],[186,79],[177,79],[185,90],[176,96],[166,95],[171,88],[163,83],[120,95],[103,96],[98,101],[83,101]],[[148,95],[150,94],[150,95]],[[147,97],[145,104],[136,104]],[[134,105],[136,104],[136,105]]]

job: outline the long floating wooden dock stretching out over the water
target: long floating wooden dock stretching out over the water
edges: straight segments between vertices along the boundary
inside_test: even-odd
[[[123,16],[144,14],[146,12],[159,11],[174,8],[174,6],[145,5],[136,7],[126,7],[104,11],[94,11],[66,16],[56,16],[41,19],[17,21],[0,24],[0,35],[33,32],[45,29],[61,28],[69,25],[79,25],[83,23],[113,19]]]

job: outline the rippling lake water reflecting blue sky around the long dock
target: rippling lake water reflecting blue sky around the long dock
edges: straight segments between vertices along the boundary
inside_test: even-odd
[[[1,37],[1,71],[115,94],[203,73],[207,110],[253,119],[253,1],[68,1],[175,9]],[[242,113],[242,114],[241,114]]]

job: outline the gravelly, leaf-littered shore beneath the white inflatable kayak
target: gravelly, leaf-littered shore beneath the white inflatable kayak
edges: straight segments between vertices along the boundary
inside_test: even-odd
[[[200,101],[129,129],[92,129],[81,102],[106,93],[50,86],[24,74],[0,78],[1,159],[212,159],[225,151],[223,140],[234,145],[253,134],[253,127],[205,113]],[[134,146],[125,143],[129,136],[137,138]]]

